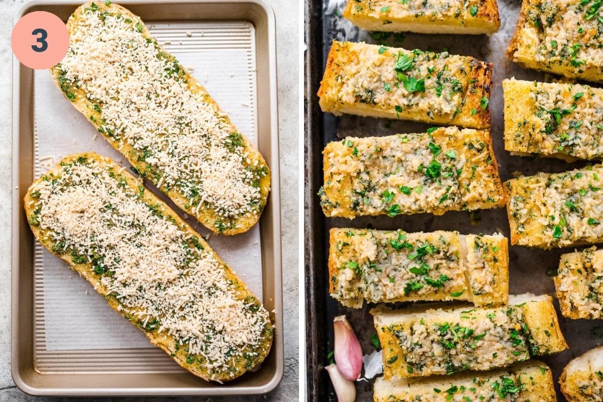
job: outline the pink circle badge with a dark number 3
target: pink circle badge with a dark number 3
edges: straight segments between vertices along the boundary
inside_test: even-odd
[[[51,68],[67,54],[69,33],[65,23],[46,11],[25,14],[10,37],[14,55],[33,69]]]

